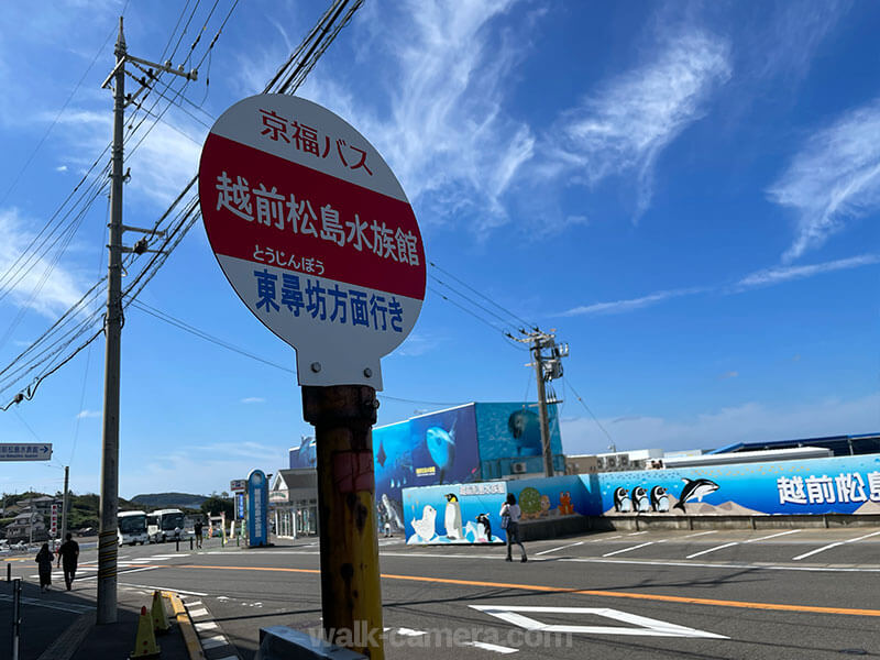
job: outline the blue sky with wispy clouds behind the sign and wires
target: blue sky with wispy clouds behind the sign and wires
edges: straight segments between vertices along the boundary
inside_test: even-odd
[[[4,4],[0,274],[110,141],[100,84],[123,8],[130,53],[157,59],[195,6],[174,61],[207,25],[191,66],[232,0],[209,18],[213,4]],[[326,7],[234,9],[188,100],[138,133],[127,224],[158,218],[208,127],[263,89]],[[569,342],[556,383],[569,453],[880,429],[879,28],[867,1],[367,0],[298,95],[385,156],[442,268],[383,361],[380,424],[535,398],[528,354],[499,331],[517,321],[485,296]],[[0,279],[0,369],[102,275],[106,213],[99,197],[66,250]],[[129,308],[121,495],[222,491],[285,466],[310,429],[293,349],[238,299],[200,223],[139,300],[277,366]],[[99,490],[102,371],[100,338],[0,414],[2,441],[55,446],[52,463],[1,464],[0,490],[59,490],[63,464],[75,491]],[[0,403],[29,382],[0,381]]]

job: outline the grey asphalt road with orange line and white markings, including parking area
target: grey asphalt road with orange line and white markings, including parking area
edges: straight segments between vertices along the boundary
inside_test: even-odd
[[[250,660],[261,627],[320,628],[317,541],[279,543],[124,548],[119,580],[189,593],[207,634]],[[619,531],[527,548],[524,564],[502,547],[382,539],[386,657],[880,657],[877,528]]]

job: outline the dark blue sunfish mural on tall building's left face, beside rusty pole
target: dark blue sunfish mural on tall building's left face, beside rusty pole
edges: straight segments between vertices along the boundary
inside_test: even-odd
[[[404,531],[403,490],[480,479],[474,404],[373,429],[380,528]]]

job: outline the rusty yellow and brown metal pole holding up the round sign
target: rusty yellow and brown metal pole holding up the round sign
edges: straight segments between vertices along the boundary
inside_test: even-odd
[[[315,426],[321,548],[321,610],[328,641],[384,660],[373,425],[366,385],[302,387]]]

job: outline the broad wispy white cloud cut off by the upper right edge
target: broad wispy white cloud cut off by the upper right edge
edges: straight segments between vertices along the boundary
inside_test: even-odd
[[[822,246],[848,220],[880,208],[880,99],[845,113],[806,141],[769,190],[798,216],[784,262]]]

